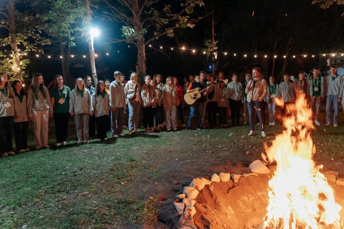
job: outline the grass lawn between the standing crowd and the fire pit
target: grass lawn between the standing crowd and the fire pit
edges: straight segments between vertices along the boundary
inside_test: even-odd
[[[343,113],[340,116],[339,127],[318,127],[313,139],[316,161],[343,176]],[[0,228],[169,227],[159,222],[159,203],[173,199],[192,177],[216,172],[214,165],[248,165],[260,157],[264,140],[248,137],[248,130],[139,133],[80,145],[70,140],[67,147],[0,158]],[[49,131],[53,146],[54,128]],[[267,127],[266,132],[269,142],[281,126]],[[75,133],[71,125],[69,139],[75,139]],[[247,150],[253,155],[246,155]],[[179,185],[173,186],[176,179]]]

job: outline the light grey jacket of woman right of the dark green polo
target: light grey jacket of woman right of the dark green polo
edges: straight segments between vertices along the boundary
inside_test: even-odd
[[[91,94],[88,90],[83,97],[79,93],[79,89],[73,89],[70,94],[69,113],[88,114],[93,111]]]

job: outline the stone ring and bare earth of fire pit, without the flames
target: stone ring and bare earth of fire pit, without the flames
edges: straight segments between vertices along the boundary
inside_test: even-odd
[[[181,229],[258,228],[266,215],[268,182],[276,166],[269,169],[257,160],[251,173],[214,173],[210,180],[194,178],[173,202]],[[344,186],[338,172],[324,172],[337,202],[344,206]],[[335,177],[333,177],[335,176]],[[336,182],[337,181],[337,185]],[[344,217],[344,209],[340,212]]]

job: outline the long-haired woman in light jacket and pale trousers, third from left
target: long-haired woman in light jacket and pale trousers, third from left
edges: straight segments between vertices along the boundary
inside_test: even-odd
[[[36,149],[50,148],[48,145],[48,122],[53,117],[49,91],[44,86],[43,76],[35,73],[28,89],[28,116],[33,120],[33,137]]]

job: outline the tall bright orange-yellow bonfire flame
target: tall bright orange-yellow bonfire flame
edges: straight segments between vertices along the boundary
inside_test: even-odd
[[[266,158],[276,161],[277,169],[269,181],[269,204],[261,229],[343,228],[332,188],[315,166],[315,145],[310,136],[314,129],[312,111],[305,96],[287,106],[284,130],[266,147]]]

